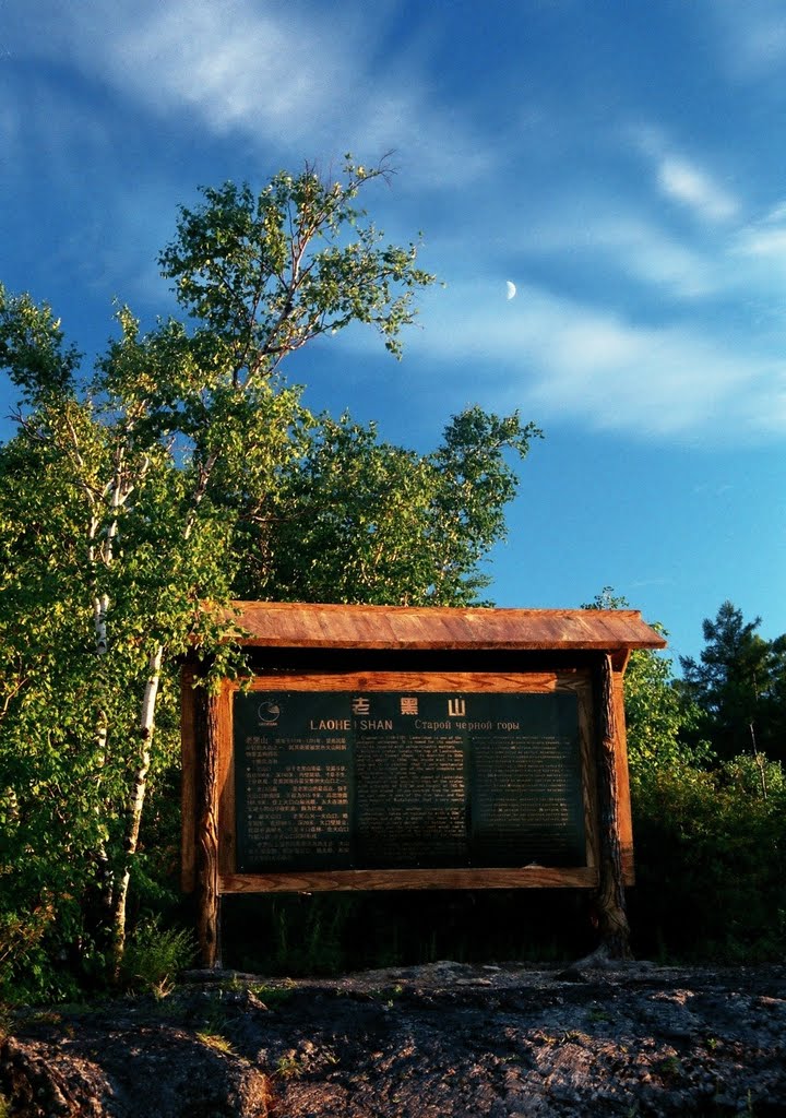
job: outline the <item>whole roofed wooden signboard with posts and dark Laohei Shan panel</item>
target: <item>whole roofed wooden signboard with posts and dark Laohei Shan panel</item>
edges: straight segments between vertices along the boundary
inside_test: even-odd
[[[240,603],[254,674],[183,670],[183,884],[222,893],[572,887],[626,936],[633,610]]]

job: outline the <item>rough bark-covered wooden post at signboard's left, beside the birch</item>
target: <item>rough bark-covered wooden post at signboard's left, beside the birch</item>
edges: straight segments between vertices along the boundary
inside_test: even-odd
[[[197,701],[197,934],[203,967],[218,963],[219,697],[200,688]]]

